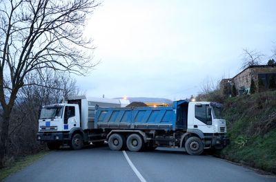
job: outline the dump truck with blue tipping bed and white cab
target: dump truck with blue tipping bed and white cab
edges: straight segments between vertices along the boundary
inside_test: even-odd
[[[179,100],[171,107],[96,108],[95,128],[107,134],[112,150],[184,148],[190,155],[228,143],[221,104]]]

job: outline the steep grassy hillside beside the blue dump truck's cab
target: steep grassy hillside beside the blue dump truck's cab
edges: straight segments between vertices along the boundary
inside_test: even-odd
[[[276,91],[224,102],[230,145],[219,155],[276,173]]]

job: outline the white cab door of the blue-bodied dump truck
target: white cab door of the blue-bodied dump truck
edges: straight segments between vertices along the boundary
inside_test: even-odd
[[[194,128],[203,133],[213,133],[213,122],[209,104],[195,104]]]

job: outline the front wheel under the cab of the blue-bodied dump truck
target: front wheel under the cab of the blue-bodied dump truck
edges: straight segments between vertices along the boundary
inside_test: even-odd
[[[191,136],[185,143],[186,152],[190,155],[200,155],[204,151],[202,140],[197,136]]]

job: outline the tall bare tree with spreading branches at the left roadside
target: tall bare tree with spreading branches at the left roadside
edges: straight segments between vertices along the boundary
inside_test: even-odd
[[[83,38],[83,28],[87,15],[99,4],[94,0],[0,0],[0,4],[1,160],[7,154],[17,93],[36,84],[26,77],[43,78],[43,69],[84,75],[96,65],[88,54],[93,47],[90,39]]]

